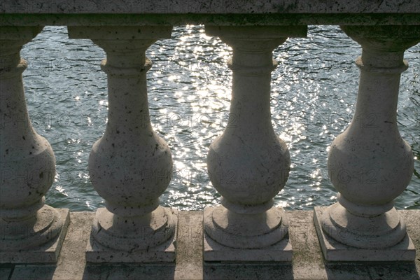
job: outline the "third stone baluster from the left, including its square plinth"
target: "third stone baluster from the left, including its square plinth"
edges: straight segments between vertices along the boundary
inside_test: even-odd
[[[213,27],[232,47],[232,100],[223,134],[209,148],[207,168],[221,205],[204,209],[204,260],[254,261],[292,258],[288,222],[273,207],[290,170],[286,144],[270,113],[272,51],[307,27]]]

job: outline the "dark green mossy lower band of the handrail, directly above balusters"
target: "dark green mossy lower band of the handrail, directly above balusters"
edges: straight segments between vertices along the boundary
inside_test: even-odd
[[[325,14],[8,14],[0,26],[143,26],[143,25],[420,25],[420,13]]]

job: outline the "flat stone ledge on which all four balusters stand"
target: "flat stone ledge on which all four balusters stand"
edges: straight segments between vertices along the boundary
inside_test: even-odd
[[[2,265],[0,279],[420,279],[420,210],[398,211],[416,246],[416,261],[323,261],[312,211],[288,211],[293,263],[203,264],[202,212],[179,212],[178,254],[172,265],[86,264],[84,251],[94,213],[73,212],[57,265]]]

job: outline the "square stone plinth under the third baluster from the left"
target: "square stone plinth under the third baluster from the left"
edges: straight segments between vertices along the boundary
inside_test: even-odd
[[[293,256],[288,236],[269,247],[239,249],[218,244],[204,232],[203,245],[207,262],[291,262]]]

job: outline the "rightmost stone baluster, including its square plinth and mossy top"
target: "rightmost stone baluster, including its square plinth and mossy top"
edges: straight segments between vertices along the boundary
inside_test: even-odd
[[[349,127],[332,141],[328,171],[338,202],[315,207],[326,260],[414,260],[415,250],[393,200],[413,173],[412,150],[400,136],[397,103],[404,51],[419,27],[342,27],[362,45],[360,82]],[[321,230],[322,229],[322,230]]]

